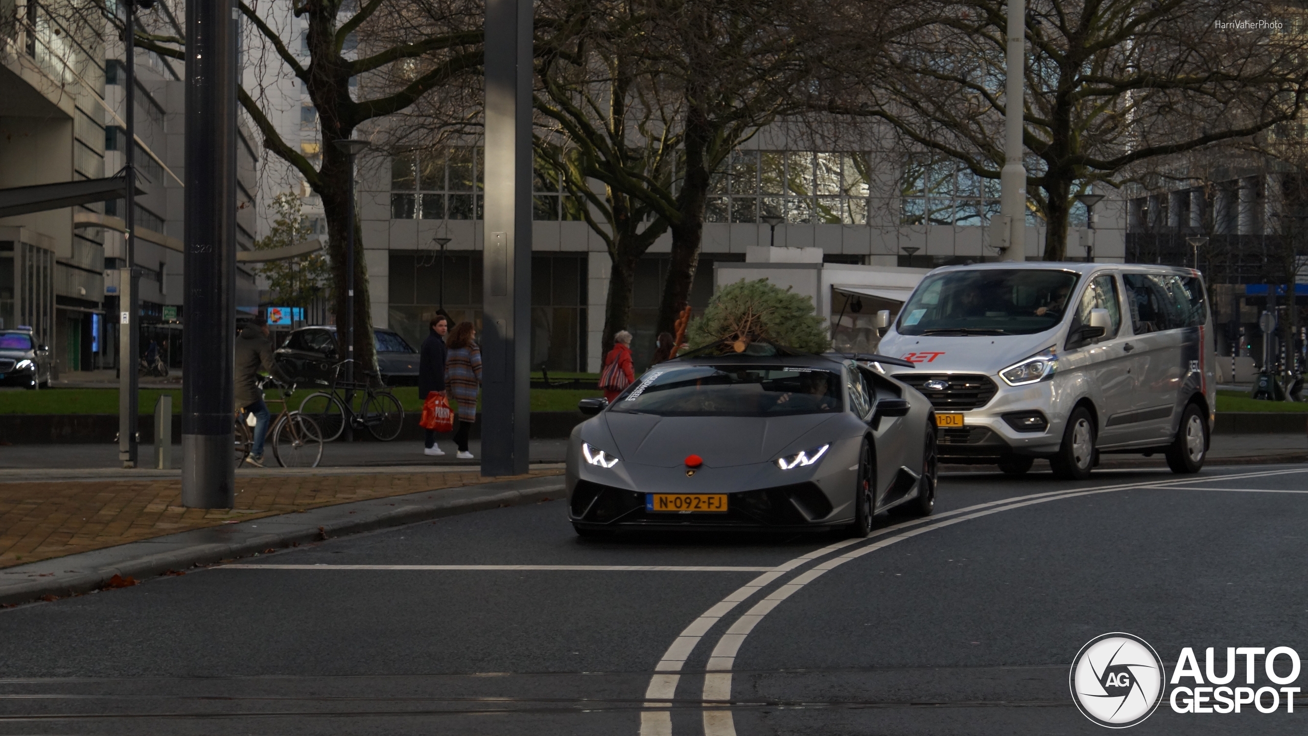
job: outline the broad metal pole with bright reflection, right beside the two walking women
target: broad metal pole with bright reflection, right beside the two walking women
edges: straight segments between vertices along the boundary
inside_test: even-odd
[[[531,0],[487,0],[481,474],[527,471],[531,360]]]

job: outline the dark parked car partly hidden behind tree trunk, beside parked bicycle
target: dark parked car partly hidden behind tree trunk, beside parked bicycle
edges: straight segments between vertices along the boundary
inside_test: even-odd
[[[417,351],[391,330],[373,330],[377,364],[388,386],[417,385]],[[303,388],[328,385],[335,365],[341,361],[336,327],[301,327],[286,337],[273,359],[288,378]]]

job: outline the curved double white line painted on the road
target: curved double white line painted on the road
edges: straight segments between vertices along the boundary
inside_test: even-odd
[[[763,591],[772,583],[781,579],[787,572],[791,572],[804,564],[821,559],[832,553],[837,553],[846,547],[854,547],[838,557],[833,557],[820,564],[816,564],[807,571],[797,575],[790,581],[782,584],[781,587],[773,589],[763,600],[753,604],[744,614],[735,619],[730,629],[726,630],[719,638],[717,644],[713,647],[713,652],[709,655],[708,673],[704,676],[704,691],[702,699],[705,701],[704,715],[704,733],[705,736],[735,736],[735,723],[731,718],[731,711],[726,708],[714,708],[708,703],[730,703],[731,702],[731,668],[735,664],[735,656],[740,651],[740,646],[744,643],[746,638],[753,631],[753,627],[759,625],[760,621],[772,609],[777,608],[781,601],[789,598],[790,596],[799,592],[804,585],[812,583],[818,578],[825,575],[828,571],[845,564],[852,559],[863,557],[865,554],[872,553],[875,550],[888,547],[895,542],[901,540],[908,540],[926,532],[940,529],[943,526],[951,526],[960,521],[968,521],[971,519],[978,519],[982,516],[989,516],[991,513],[998,513],[1001,511],[1011,511],[1015,508],[1022,508],[1027,506],[1033,506],[1037,503],[1046,503],[1052,500],[1061,500],[1066,498],[1076,498],[1093,494],[1107,494],[1112,491],[1134,490],[1134,488],[1172,488],[1181,487],[1185,490],[1209,490],[1209,488],[1196,488],[1198,483],[1218,482],[1218,481],[1235,481],[1241,478],[1264,478],[1270,475],[1284,475],[1291,473],[1308,473],[1308,469],[1292,469],[1292,470],[1271,470],[1262,473],[1243,473],[1235,475],[1216,475],[1211,478],[1196,479],[1196,478],[1179,478],[1176,481],[1159,481],[1159,482],[1135,482],[1135,483],[1120,483],[1113,486],[1099,486],[1091,488],[1069,488],[1065,491],[1048,491],[1044,494],[1033,494],[1027,496],[1014,496],[1001,500],[994,500],[989,503],[981,503],[976,506],[969,506],[967,508],[960,508],[956,511],[950,511],[939,513],[927,519],[916,519],[912,521],[905,521],[903,524],[896,524],[893,526],[887,526],[879,529],[871,534],[869,538],[854,538],[836,542],[835,545],[828,545],[820,550],[811,551],[806,555],[797,557],[790,562],[765,572],[749,583],[736,588],[731,595],[718,601],[713,608],[704,612],[698,618],[691,622],[680,635],[672,642],[672,646],[667,648],[663,653],[663,659],[654,668],[654,676],[650,677],[649,688],[645,691],[645,710],[641,711],[641,736],[671,736],[672,733],[672,714],[666,710],[671,701],[676,697],[676,686],[681,678],[680,671],[685,665],[685,660],[689,659],[691,652],[695,651],[700,639],[708,634],[709,629],[714,623],[726,617],[732,609],[739,604],[744,602],[747,598],[753,596],[756,592]],[[1211,490],[1227,490],[1227,488],[1211,488]],[[1244,488],[1241,488],[1244,490]],[[1250,488],[1252,490],[1252,488]],[[1269,491],[1275,492],[1275,491]],[[871,540],[876,541],[871,541]]]

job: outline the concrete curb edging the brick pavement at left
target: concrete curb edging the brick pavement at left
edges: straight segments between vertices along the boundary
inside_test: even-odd
[[[114,575],[140,580],[198,564],[247,557],[269,547],[289,547],[443,516],[561,498],[562,490],[562,475],[547,475],[421,491],[191,529],[0,570],[0,605],[97,591],[105,588]]]

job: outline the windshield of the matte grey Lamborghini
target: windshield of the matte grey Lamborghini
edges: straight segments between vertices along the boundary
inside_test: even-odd
[[[651,368],[610,411],[659,416],[786,416],[841,410],[841,378],[818,368]]]

